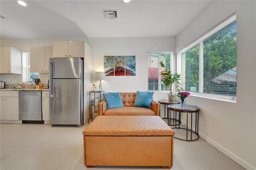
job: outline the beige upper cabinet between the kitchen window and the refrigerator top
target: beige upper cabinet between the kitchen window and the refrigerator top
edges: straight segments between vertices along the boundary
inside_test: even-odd
[[[30,47],[30,72],[48,73],[49,58],[52,58],[52,46]]]

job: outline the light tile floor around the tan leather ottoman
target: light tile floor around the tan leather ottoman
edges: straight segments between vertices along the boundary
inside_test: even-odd
[[[84,170],[82,131],[78,127],[46,124],[0,124],[1,170]],[[96,166],[90,170],[158,169],[161,167]],[[174,139],[171,170],[244,170],[222,152],[199,138]]]

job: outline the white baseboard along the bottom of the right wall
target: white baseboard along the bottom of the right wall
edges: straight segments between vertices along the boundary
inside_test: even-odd
[[[186,126],[186,122],[184,120],[181,120],[181,122]],[[190,125],[188,125],[188,128],[190,128]],[[195,131],[195,128],[192,128],[192,130]],[[224,148],[214,140],[210,139],[208,136],[202,134],[200,131],[198,131],[198,135],[204,140],[206,140],[206,142],[208,142],[209,144],[211,144],[212,146],[220,150],[220,152],[228,156],[230,159],[234,160],[236,163],[244,167],[246,170],[256,170],[256,167],[252,166],[251,164],[249,164],[248,162],[246,162],[245,160],[243,160],[233,152],[230,152],[230,150],[227,150],[226,148]]]

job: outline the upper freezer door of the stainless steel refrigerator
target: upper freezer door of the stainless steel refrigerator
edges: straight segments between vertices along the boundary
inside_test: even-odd
[[[50,78],[80,78],[81,58],[49,58]]]

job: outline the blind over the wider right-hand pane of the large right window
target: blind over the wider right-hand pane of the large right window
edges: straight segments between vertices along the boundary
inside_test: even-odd
[[[203,92],[236,96],[236,21],[203,41]]]

